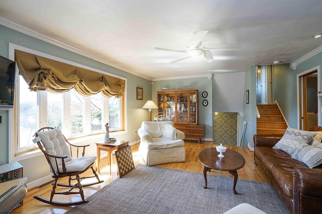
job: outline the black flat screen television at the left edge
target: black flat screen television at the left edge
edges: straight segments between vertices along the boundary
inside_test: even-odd
[[[0,108],[14,108],[16,63],[0,56]]]

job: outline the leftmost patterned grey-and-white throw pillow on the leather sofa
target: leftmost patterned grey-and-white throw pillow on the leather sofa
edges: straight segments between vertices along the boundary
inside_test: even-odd
[[[296,149],[302,147],[302,144],[310,144],[315,135],[315,132],[302,131],[288,127],[282,139],[278,141],[273,148],[292,155]]]

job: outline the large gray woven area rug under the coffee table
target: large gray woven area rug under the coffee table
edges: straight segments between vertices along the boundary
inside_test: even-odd
[[[223,213],[249,203],[267,213],[289,213],[269,183],[139,164],[67,213]]]

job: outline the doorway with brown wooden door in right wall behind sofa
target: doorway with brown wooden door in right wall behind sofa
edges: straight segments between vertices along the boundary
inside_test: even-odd
[[[298,76],[299,128],[308,131],[318,124],[317,70]]]

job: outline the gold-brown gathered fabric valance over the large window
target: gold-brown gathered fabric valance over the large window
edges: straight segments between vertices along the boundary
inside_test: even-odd
[[[63,93],[74,88],[83,96],[101,93],[104,97],[121,97],[125,80],[88,69],[15,50],[19,74],[31,91]]]

